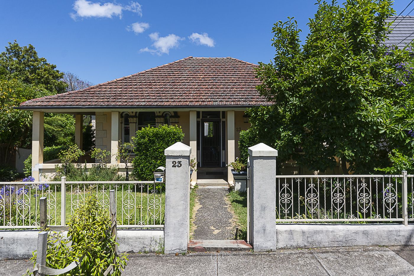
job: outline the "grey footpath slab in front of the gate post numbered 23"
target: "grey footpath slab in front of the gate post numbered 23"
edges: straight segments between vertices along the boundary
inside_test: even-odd
[[[122,276],[217,276],[217,254],[130,255]]]

